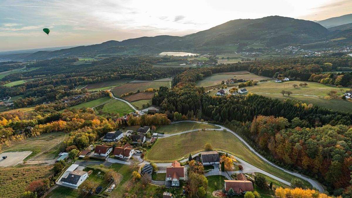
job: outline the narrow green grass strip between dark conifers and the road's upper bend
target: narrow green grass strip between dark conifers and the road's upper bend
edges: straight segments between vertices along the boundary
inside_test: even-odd
[[[202,124],[197,122],[180,122],[176,124],[168,124],[158,126],[156,132],[164,132],[165,134],[175,134],[182,131],[188,131],[193,129],[219,129],[218,126],[210,124]]]

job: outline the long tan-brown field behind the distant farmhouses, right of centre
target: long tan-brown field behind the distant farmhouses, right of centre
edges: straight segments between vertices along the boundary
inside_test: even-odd
[[[205,77],[203,80],[197,81],[197,86],[208,87],[221,84],[221,81],[226,81],[227,79],[244,79],[244,80],[264,80],[268,79],[264,76],[258,76],[256,74],[247,72],[247,71],[238,71],[238,72],[227,72],[213,74]]]

